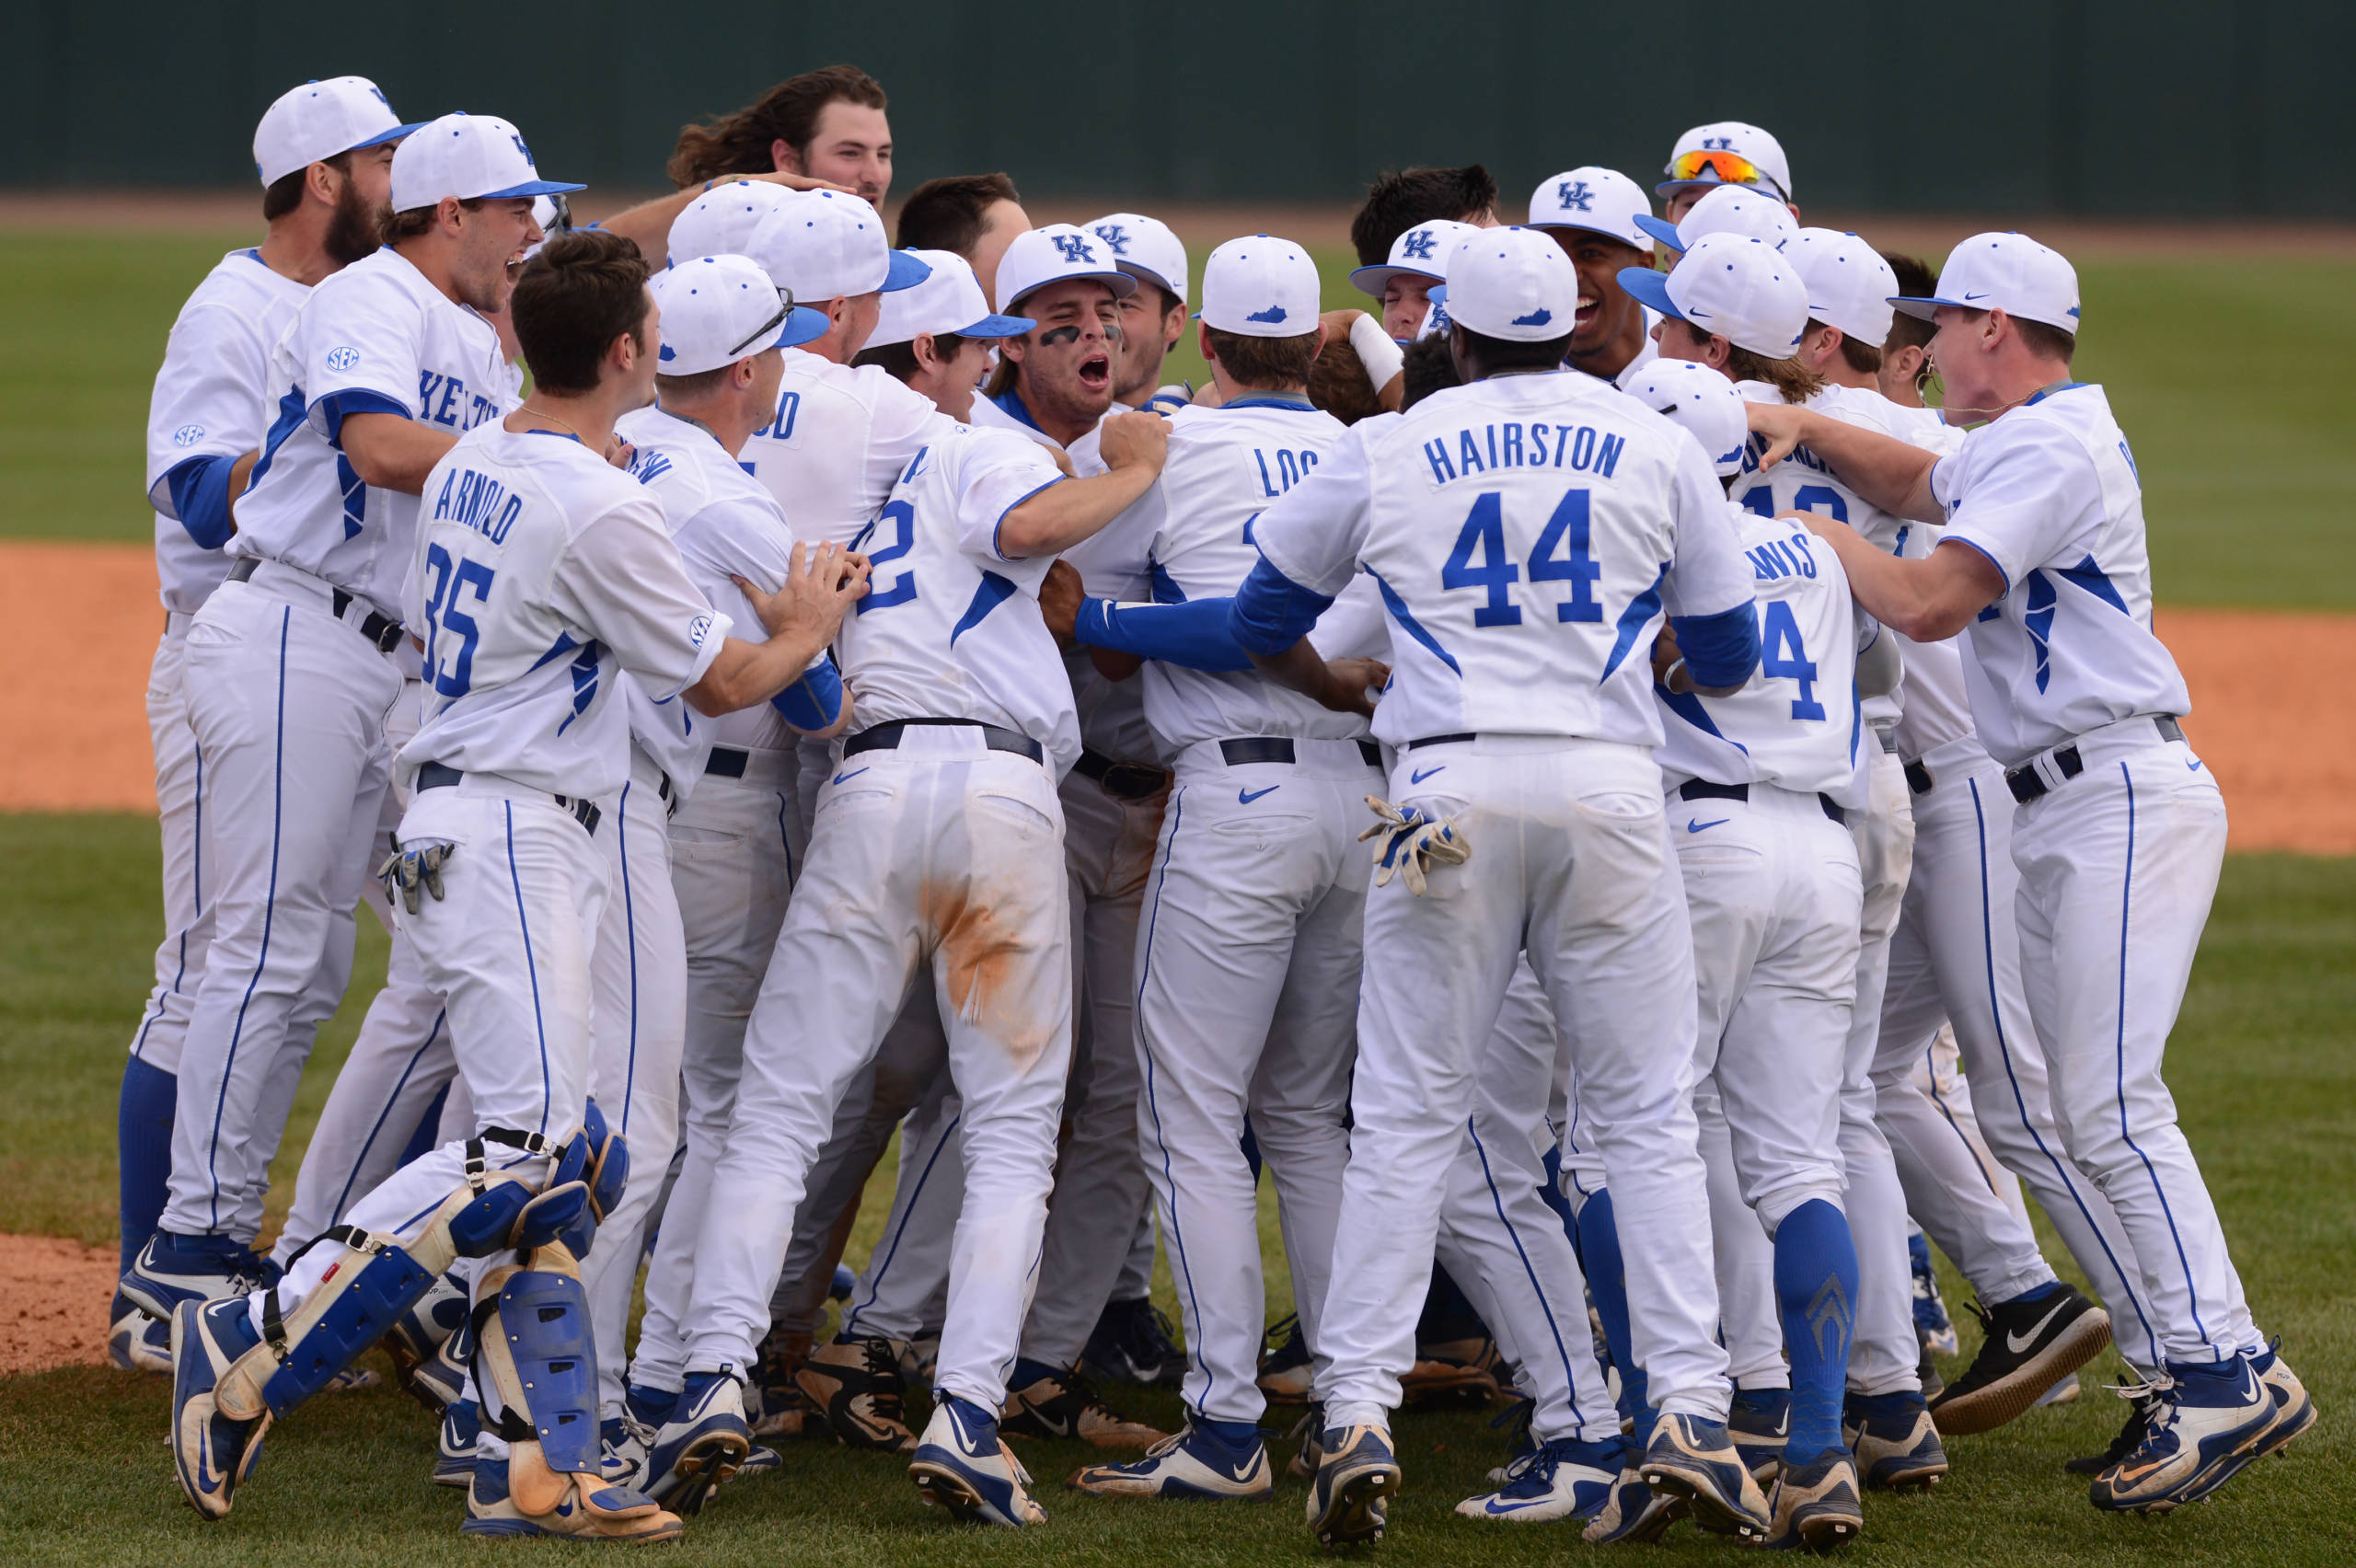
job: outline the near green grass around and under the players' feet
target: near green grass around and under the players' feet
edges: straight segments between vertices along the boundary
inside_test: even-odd
[[[113,1238],[113,1107],[123,1048],[146,989],[155,932],[155,841],[146,817],[0,817],[0,1231]],[[323,1031],[304,1078],[280,1189],[342,1059],[384,944],[360,921],[353,1005]],[[1852,1561],[1918,1566],[2043,1563],[2347,1563],[2356,1556],[2356,862],[2236,857],[2193,975],[2170,1081],[2236,1238],[2259,1321],[2285,1337],[2323,1424],[2285,1460],[2238,1479],[2210,1507],[2165,1521],[2097,1516],[2059,1462],[2099,1448],[2120,1408],[2087,1370],[2078,1403],[1953,1443],[1955,1471],[1922,1500],[1873,1497]],[[888,1170],[881,1180],[888,1180]],[[879,1224],[853,1241],[865,1257]],[[1270,1236],[1272,1241],[1272,1236]],[[2050,1250],[2050,1236],[2047,1236]],[[2054,1250],[2057,1253],[2057,1250]],[[2059,1255],[2059,1253],[2057,1253]],[[1284,1307],[1282,1250],[1270,1295]],[[1960,1293],[1948,1281],[1948,1300]],[[1967,1328],[1970,1342],[1970,1328]],[[1955,1368],[1951,1366],[1948,1373]],[[1126,1391],[1124,1391],[1126,1396]],[[1126,1398],[1166,1424],[1171,1394]],[[318,1398],[269,1439],[238,1511],[205,1526],[179,1504],[160,1443],[160,1380],[64,1370],[0,1380],[0,1464],[16,1476],[0,1511],[7,1563],[370,1563],[478,1561],[459,1542],[459,1500],[426,1483],[434,1434],[403,1394]],[[1275,1420],[1275,1417],[1272,1417]],[[1461,1521],[1503,1436],[1487,1415],[1411,1415],[1399,1424],[1407,1495],[1378,1549],[1392,1563],[1536,1563],[1588,1552],[1571,1530]],[[926,1514],[900,1467],[834,1446],[796,1446],[780,1476],[747,1481],[690,1523],[693,1563],[1265,1563],[1312,1561],[1301,1483],[1272,1507],[1117,1507],[1055,1486],[1088,1460],[1079,1446],[1030,1450],[1051,1511],[1041,1533],[954,1530]],[[1666,1561],[1727,1561],[1692,1533]]]

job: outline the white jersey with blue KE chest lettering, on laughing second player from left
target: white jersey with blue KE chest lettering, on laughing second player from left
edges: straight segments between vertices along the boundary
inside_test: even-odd
[[[384,247],[325,278],[271,356],[278,410],[231,556],[325,577],[398,617],[417,497],[363,485],[339,436],[349,414],[401,414],[452,436],[514,407],[499,334]]]

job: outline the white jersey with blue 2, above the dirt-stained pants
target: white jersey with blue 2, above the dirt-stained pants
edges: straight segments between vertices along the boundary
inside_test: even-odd
[[[891,501],[853,549],[874,574],[834,650],[853,725],[973,718],[1046,746],[1060,777],[1079,758],[1072,683],[1046,622],[1039,582],[1053,556],[1008,560],[999,523],[1063,480],[1034,443],[942,424],[909,459]]]

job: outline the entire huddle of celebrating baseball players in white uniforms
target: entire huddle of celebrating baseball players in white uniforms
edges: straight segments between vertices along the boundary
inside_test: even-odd
[[[1517,224],[1385,174],[1333,308],[1291,240],[1194,266],[1004,174],[888,238],[848,66],[587,228],[363,78],[254,158],[148,421],[108,1337],[205,1519],[377,1344],[462,1530],[627,1542],[792,1439],[999,1526],[1008,1439],[1107,1497],[1286,1464],[1371,1542],[1402,1406],[1501,1398],[1458,1514],[1821,1552],[2113,1344],[2099,1509],[2314,1424],[2160,1081],[2226,817],[2057,252],[1805,228],[1718,122]]]

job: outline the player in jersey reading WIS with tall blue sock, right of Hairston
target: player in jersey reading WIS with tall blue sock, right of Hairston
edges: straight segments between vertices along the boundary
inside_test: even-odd
[[[1798,278],[1788,283],[1805,308]],[[1682,308],[1725,320],[1713,304],[1725,301],[1703,290]],[[1725,377],[1663,360],[1630,396],[1694,431],[1722,480],[1741,476],[1751,431]],[[1864,909],[1847,812],[1864,800],[1857,699],[1894,685],[1897,652],[1854,612],[1840,563],[1807,530],[1734,513],[1758,577],[1760,669],[1732,697],[1694,692],[1663,638],[1654,699],[1668,732],[1661,775],[1685,819],[1675,845],[1701,986],[1696,1114],[1706,1158],[1727,1161],[1741,1191],[1732,1212],[1713,1205],[1713,1231],[1725,1257],[1727,1241],[1758,1234],[1741,1210],[1758,1215],[1774,1243],[1762,1295],[1781,1307],[1791,1361],[1767,1544],[1821,1552],[1864,1528],[1840,1431],[1857,1302],[1840,1085]],[[1718,1189],[1713,1180],[1713,1198]],[[1720,1271],[1729,1330],[1748,1307],[1734,1293]]]

